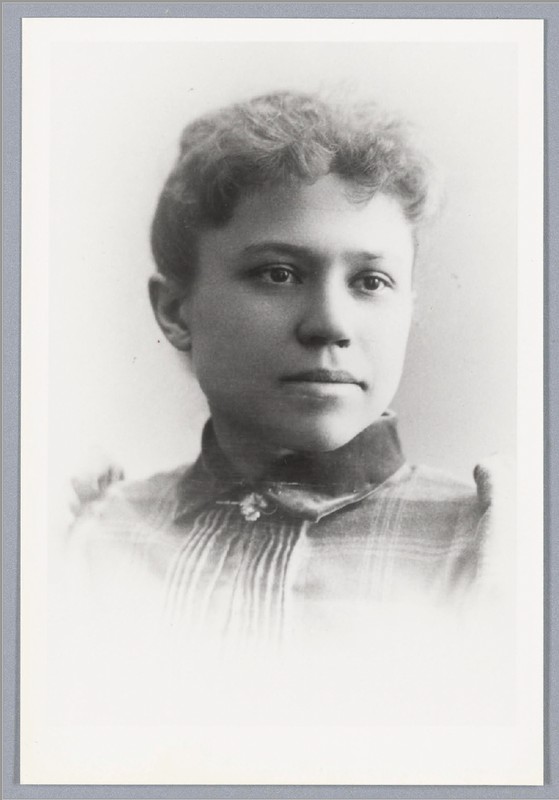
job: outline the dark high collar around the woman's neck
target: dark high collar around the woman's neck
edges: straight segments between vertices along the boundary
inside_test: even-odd
[[[192,503],[198,507],[226,493],[243,497],[257,492],[291,513],[319,519],[366,496],[403,464],[396,417],[387,412],[338,450],[283,456],[251,481],[227,459],[210,420],[200,457],[183,483],[178,516]]]

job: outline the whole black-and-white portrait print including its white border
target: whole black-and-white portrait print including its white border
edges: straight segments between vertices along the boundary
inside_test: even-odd
[[[542,43],[24,20],[23,783],[542,782]]]

